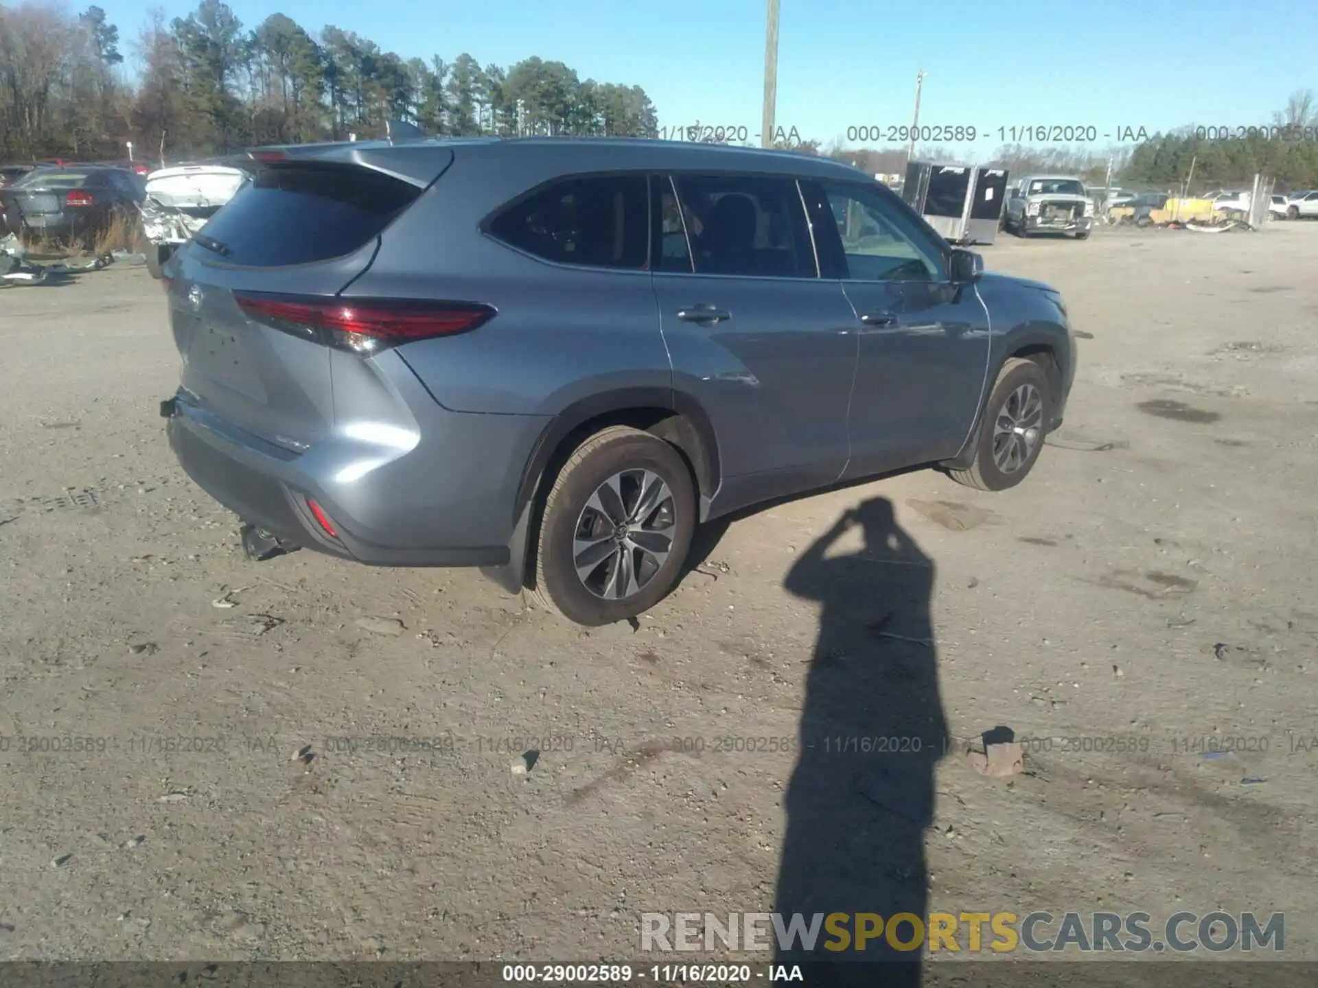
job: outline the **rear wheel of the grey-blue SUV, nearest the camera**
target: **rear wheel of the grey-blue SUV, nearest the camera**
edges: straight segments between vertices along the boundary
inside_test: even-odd
[[[610,425],[572,453],[544,501],[532,593],[577,624],[635,618],[677,582],[695,528],[681,454],[647,432]]]

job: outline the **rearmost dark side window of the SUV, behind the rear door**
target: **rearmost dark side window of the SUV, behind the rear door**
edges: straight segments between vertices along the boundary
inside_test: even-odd
[[[650,253],[645,175],[555,182],[489,223],[489,234],[544,261],[645,270]]]

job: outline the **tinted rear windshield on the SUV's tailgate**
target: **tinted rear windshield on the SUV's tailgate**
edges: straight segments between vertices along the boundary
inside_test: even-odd
[[[281,267],[357,250],[420,195],[355,165],[270,165],[206,224],[225,261]]]

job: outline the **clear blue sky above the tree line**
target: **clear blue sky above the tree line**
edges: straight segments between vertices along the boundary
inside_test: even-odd
[[[101,5],[125,41],[146,20],[140,0]],[[927,72],[920,123],[977,128],[974,144],[945,142],[966,157],[1000,144],[998,128],[1094,128],[1107,146],[1126,126],[1152,133],[1190,123],[1268,123],[1293,90],[1318,90],[1314,0],[780,5],[778,125],[825,144],[846,138],[850,128],[908,125],[920,69]],[[174,17],[195,3],[162,7]],[[645,87],[662,128],[699,121],[745,126],[751,136],[760,130],[764,0],[231,0],[231,7],[248,28],[282,12],[312,33],[333,24],[405,58],[452,61],[468,51],[481,65],[559,59],[581,78]]]

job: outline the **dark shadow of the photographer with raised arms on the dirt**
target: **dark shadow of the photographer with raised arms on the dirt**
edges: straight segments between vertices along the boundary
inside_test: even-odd
[[[863,549],[826,557],[855,527]],[[774,909],[784,923],[800,913],[807,927],[816,914],[846,913],[840,926],[850,934],[844,950],[824,925],[813,948],[800,941],[780,946],[775,963],[808,963],[811,984],[920,984],[924,835],[946,738],[929,614],[933,580],[933,561],[898,524],[892,503],[874,498],[801,553],[784,584],[822,610],[800,754],[784,797]],[[866,922],[876,934],[863,945],[857,914],[871,914]],[[912,942],[920,948],[894,946]],[[821,962],[837,963],[820,970]]]

